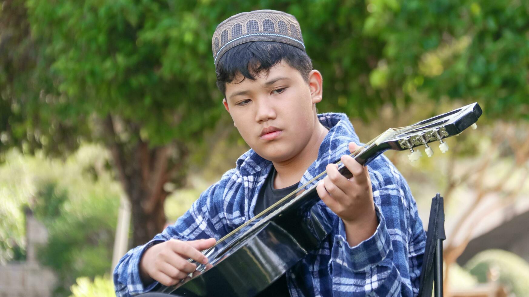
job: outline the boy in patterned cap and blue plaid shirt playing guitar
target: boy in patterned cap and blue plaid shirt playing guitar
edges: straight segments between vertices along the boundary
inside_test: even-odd
[[[416,295],[425,232],[412,194],[384,156],[369,171],[348,156],[359,140],[345,114],[316,114],[323,79],[295,17],[234,15],[217,26],[212,48],[224,107],[251,149],[173,226],[121,259],[116,294],[178,283],[195,271],[188,258],[207,263],[200,250],[327,170],[313,207],[332,230],[266,294]],[[340,159],[352,178],[338,172]]]

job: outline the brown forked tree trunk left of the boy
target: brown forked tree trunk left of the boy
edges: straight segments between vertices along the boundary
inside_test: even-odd
[[[105,120],[105,130],[115,172],[131,202],[132,247],[135,247],[147,243],[163,230],[166,223],[163,202],[169,194],[163,185],[168,181],[183,184],[185,174],[182,173],[188,154],[185,145],[178,142],[150,148],[148,142],[140,139],[139,129],[133,123],[120,123],[119,126],[125,124],[126,131],[133,132],[138,139],[133,145],[119,141],[110,115]],[[177,172],[180,174],[175,174]]]

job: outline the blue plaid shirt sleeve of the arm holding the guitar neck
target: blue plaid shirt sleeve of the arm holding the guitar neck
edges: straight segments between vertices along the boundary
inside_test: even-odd
[[[400,174],[370,168],[378,226],[351,247],[338,220],[329,271],[335,296],[414,296],[424,253],[424,230]]]

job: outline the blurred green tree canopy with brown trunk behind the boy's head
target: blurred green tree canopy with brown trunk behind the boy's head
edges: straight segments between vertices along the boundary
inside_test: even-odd
[[[0,152],[103,142],[132,202],[134,244],[160,231],[163,185],[184,184],[189,155],[207,154],[206,131],[227,129],[211,35],[235,13],[297,17],[324,76],[320,111],[373,119],[384,103],[422,96],[478,101],[490,116],[529,114],[526,1],[5,3]]]

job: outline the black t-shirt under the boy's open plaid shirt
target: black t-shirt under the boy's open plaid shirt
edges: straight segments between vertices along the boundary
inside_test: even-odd
[[[272,204],[279,201],[282,197],[285,197],[286,195],[290,194],[291,192],[297,189],[297,183],[286,188],[273,188],[273,181],[276,178],[276,173],[276,168],[272,166],[272,169],[268,174],[265,184],[263,184],[261,191],[259,192],[259,196],[257,197],[256,208],[253,209],[254,214],[259,214],[263,210],[269,208]],[[285,274],[281,275],[278,280],[269,285],[264,291],[259,293],[257,296],[290,296],[290,293],[288,293],[287,277],[285,276]]]

